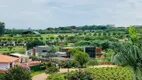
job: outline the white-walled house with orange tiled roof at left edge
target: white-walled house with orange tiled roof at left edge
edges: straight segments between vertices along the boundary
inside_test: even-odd
[[[18,58],[0,54],[0,70],[8,70],[12,68],[16,62],[18,62]]]

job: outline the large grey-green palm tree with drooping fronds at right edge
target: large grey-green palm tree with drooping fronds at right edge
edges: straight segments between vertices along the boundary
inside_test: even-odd
[[[122,65],[129,66],[133,72],[133,80],[142,80],[142,44],[136,43],[123,43],[119,49],[115,49],[117,53],[113,62]]]

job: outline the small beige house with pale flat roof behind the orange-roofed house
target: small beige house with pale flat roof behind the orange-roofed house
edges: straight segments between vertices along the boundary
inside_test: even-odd
[[[29,62],[29,56],[19,54],[19,53],[11,53],[10,56],[16,57],[19,59],[19,63],[27,63]]]

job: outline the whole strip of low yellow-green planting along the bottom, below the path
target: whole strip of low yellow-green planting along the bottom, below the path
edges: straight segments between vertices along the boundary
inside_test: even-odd
[[[82,73],[85,72],[85,73]],[[87,79],[85,79],[87,78]],[[89,79],[90,78],[90,79]],[[91,79],[92,78],[92,79]],[[82,71],[51,74],[47,80],[133,80],[128,67],[86,68]]]

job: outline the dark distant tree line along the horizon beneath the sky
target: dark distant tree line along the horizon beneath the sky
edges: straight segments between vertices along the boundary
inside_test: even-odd
[[[78,33],[83,31],[107,31],[107,32],[123,32],[126,33],[127,28],[124,27],[114,27],[114,25],[85,25],[85,26],[66,26],[66,27],[58,27],[58,28],[47,28],[47,29],[39,29],[36,30],[41,34],[48,33]],[[6,29],[6,34],[22,34],[23,32],[28,31],[28,29]]]

